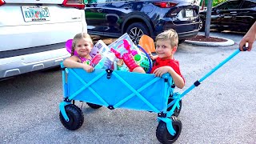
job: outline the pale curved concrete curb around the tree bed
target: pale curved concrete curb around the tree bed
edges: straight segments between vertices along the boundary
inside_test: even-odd
[[[219,38],[219,37],[213,37],[213,38]],[[186,43],[198,45],[198,46],[231,46],[234,45],[234,41],[228,38],[222,38],[226,39],[226,42],[200,42],[200,41],[190,41],[186,40]]]

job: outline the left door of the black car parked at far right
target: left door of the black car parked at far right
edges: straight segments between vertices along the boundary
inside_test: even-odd
[[[237,15],[237,10],[241,1],[229,1],[222,7],[222,10],[217,10],[219,14],[219,28],[221,30],[231,30],[234,26],[234,18]],[[234,26],[237,27],[237,26]]]

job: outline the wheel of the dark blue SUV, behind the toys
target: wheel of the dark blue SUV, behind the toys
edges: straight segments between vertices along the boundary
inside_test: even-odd
[[[150,36],[150,31],[147,29],[147,26],[142,22],[135,22],[128,26],[126,33],[129,34],[130,38],[135,45],[138,45],[139,39],[143,34]]]

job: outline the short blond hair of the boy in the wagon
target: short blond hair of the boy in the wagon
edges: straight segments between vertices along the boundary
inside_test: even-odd
[[[170,40],[171,47],[178,46],[178,34],[173,29],[165,30],[161,34],[158,34],[155,40]]]

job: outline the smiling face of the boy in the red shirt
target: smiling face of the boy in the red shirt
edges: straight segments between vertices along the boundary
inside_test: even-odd
[[[170,40],[158,40],[155,52],[159,58],[170,59],[173,58],[174,49],[170,46]]]

